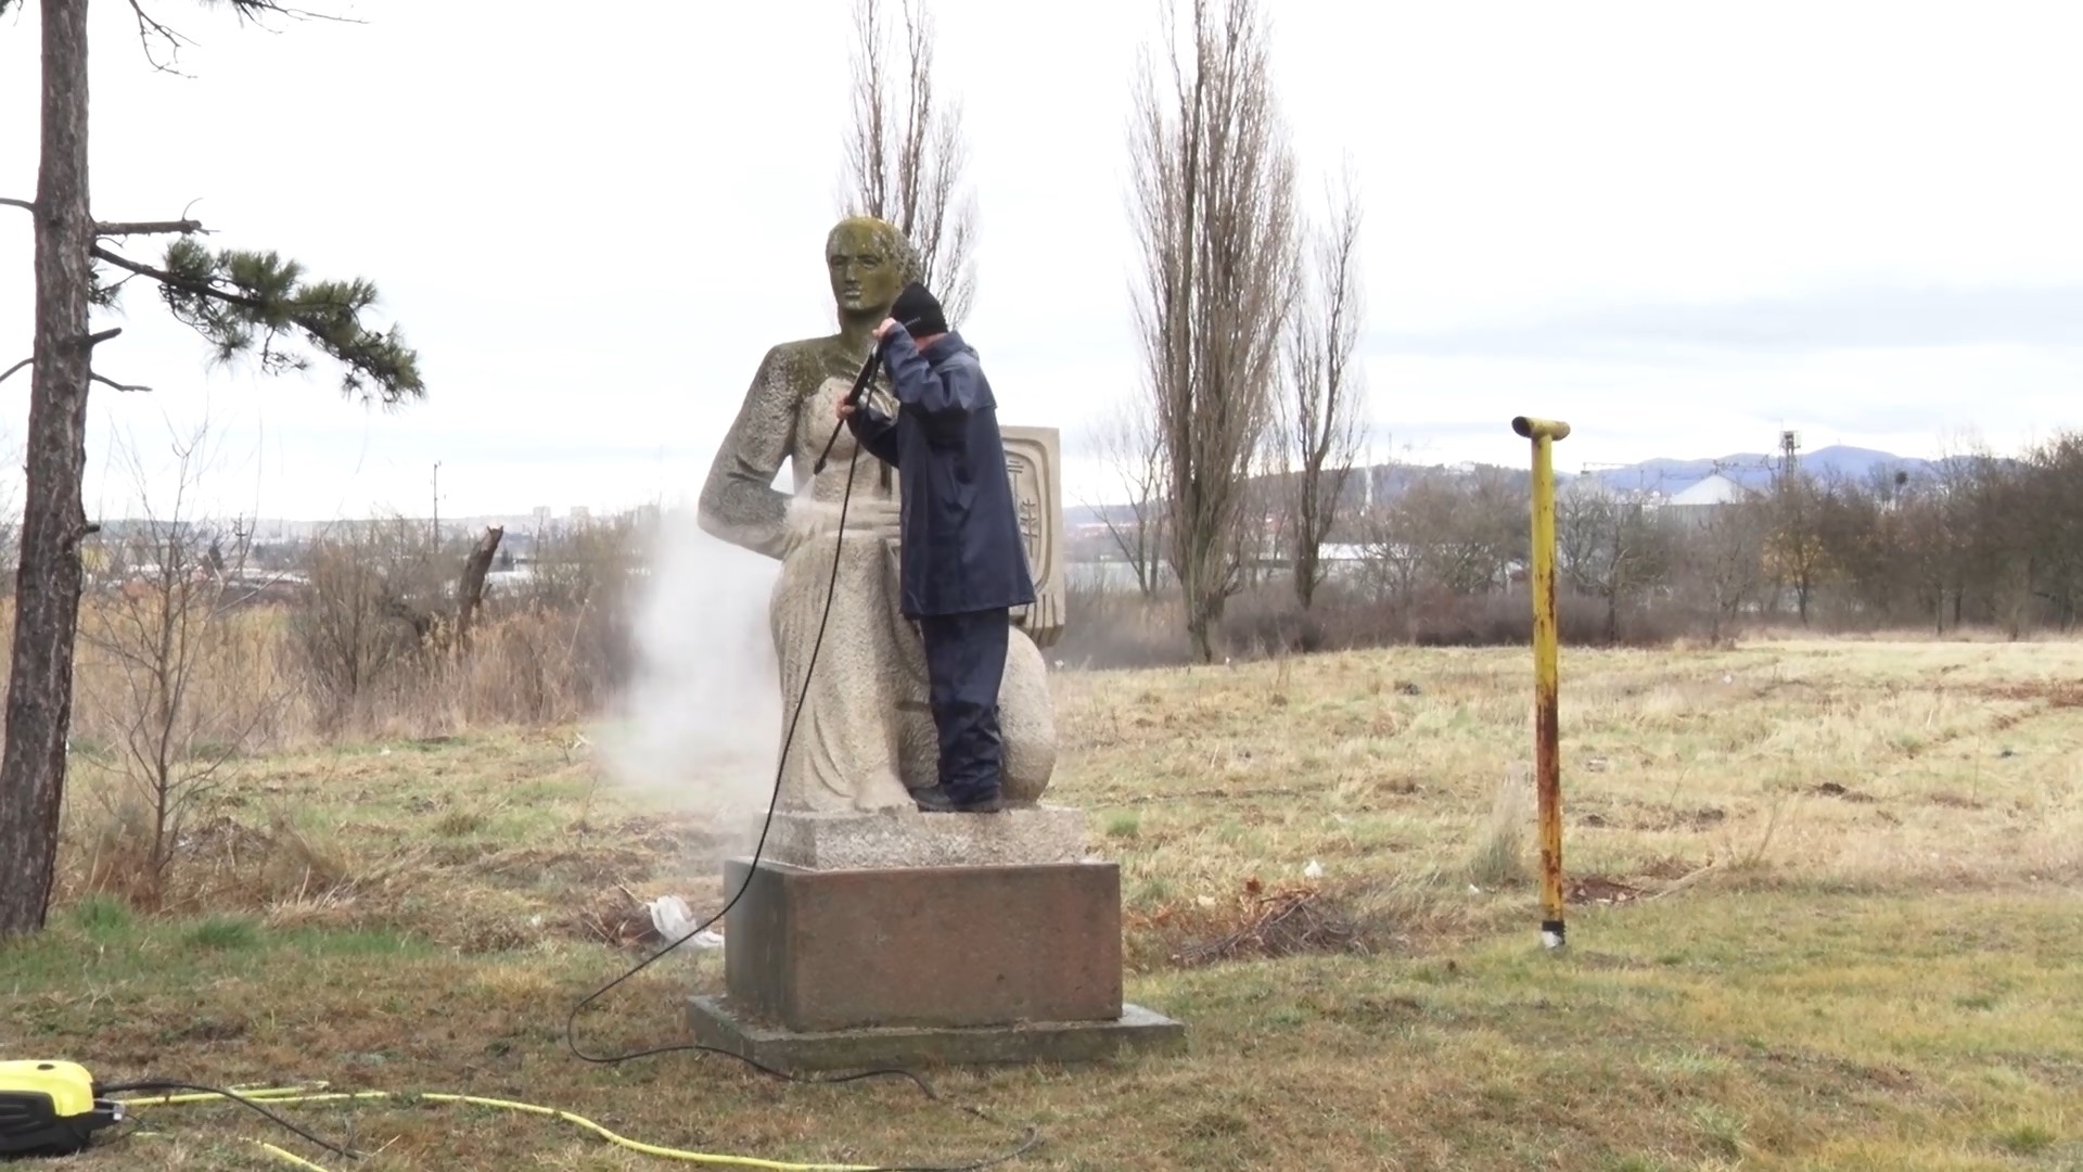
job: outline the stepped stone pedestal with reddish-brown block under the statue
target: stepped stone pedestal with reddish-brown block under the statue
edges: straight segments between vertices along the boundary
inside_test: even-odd
[[[723,997],[702,1045],[779,1070],[1087,1061],[1179,1049],[1123,1003],[1121,870],[1071,809],[775,815],[725,863]]]

